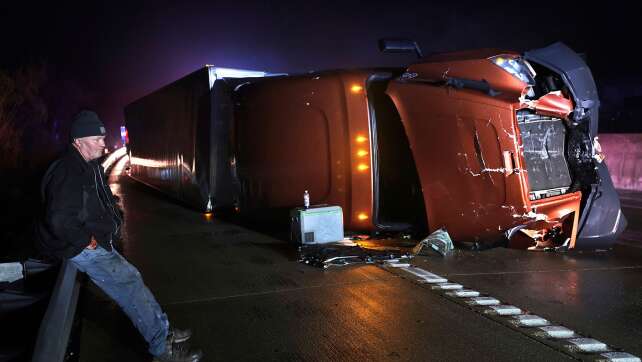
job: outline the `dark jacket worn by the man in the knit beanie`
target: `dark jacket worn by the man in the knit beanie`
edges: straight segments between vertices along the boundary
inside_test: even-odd
[[[42,180],[44,210],[36,246],[43,256],[67,259],[78,255],[93,236],[110,250],[119,237],[122,214],[97,161],[85,161],[76,148],[50,167]]]

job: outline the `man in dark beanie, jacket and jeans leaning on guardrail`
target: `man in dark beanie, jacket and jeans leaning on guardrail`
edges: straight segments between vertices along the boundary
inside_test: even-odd
[[[191,332],[169,328],[138,270],[114,249],[123,216],[97,161],[105,150],[105,126],[96,113],[76,115],[71,139],[69,150],[42,180],[45,210],[38,225],[38,249],[87,273],[131,319],[157,361],[199,361],[200,351],[175,346],[189,339]]]

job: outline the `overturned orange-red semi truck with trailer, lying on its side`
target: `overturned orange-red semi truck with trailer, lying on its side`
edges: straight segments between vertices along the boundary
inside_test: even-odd
[[[399,50],[393,42],[383,50]],[[564,44],[405,68],[206,66],[125,108],[131,174],[201,210],[339,205],[348,230],[517,248],[607,248],[626,226],[599,99]]]

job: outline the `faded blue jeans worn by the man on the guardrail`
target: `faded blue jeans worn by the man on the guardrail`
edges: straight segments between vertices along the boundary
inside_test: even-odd
[[[149,353],[165,351],[169,331],[167,315],[143,283],[140,272],[116,249],[84,249],[70,261],[123,309],[149,344]]]

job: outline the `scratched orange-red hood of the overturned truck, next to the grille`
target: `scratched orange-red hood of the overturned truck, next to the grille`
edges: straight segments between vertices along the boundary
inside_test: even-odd
[[[483,93],[393,80],[387,93],[416,161],[431,231],[460,241],[500,240],[527,204],[514,110]]]

